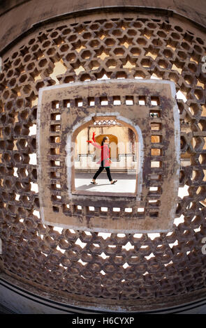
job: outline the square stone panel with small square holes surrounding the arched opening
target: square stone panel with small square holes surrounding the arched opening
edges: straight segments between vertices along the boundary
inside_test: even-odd
[[[96,118],[115,119],[135,133],[138,164],[134,193],[75,190],[75,139]],[[109,80],[45,87],[39,93],[37,127],[44,223],[110,232],[171,229],[177,208],[180,152],[173,82]]]

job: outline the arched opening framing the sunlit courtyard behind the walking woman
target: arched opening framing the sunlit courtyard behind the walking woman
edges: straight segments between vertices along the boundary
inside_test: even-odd
[[[94,146],[94,140],[97,147]],[[110,174],[116,184],[110,184],[106,170],[91,179],[100,167],[101,144],[104,137],[110,142]],[[88,140],[92,143],[87,142]],[[116,117],[94,117],[75,136],[74,186],[75,193],[93,195],[135,195],[138,181],[138,134],[132,126]]]

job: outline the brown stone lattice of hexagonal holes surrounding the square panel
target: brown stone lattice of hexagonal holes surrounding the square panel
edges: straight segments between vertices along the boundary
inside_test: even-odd
[[[16,281],[78,304],[138,311],[144,304],[196,299],[205,293],[206,273],[201,252],[206,235],[205,38],[177,19],[133,13],[106,17],[39,27],[3,57],[1,269]],[[135,78],[175,82],[179,191],[184,188],[186,195],[179,193],[170,232],[104,234],[43,224],[36,166],[39,89]]]

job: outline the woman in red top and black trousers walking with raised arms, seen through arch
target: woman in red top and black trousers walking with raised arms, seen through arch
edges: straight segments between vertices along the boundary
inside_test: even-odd
[[[97,162],[98,164],[100,164],[100,167],[99,167],[98,171],[96,171],[96,173],[94,174],[94,177],[91,180],[91,184],[97,184],[96,178],[98,177],[99,174],[101,174],[101,172],[103,171],[104,168],[107,171],[108,179],[110,180],[110,184],[115,184],[115,182],[117,182],[117,180],[112,180],[111,173],[110,173],[110,163],[112,163],[112,161],[110,160],[110,149],[109,149],[110,139],[108,137],[103,137],[103,140],[102,140],[101,146],[100,146],[96,142],[94,135],[95,135],[95,133],[93,133],[93,136],[92,136],[93,142],[91,140],[87,140],[87,142],[90,142],[94,147],[101,149],[101,159]]]

